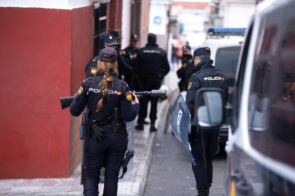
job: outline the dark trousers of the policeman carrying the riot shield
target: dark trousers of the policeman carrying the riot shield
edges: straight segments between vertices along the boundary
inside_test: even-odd
[[[197,189],[206,189],[211,187],[213,176],[212,160],[217,150],[219,128],[203,129],[203,134],[207,169],[204,167],[201,130],[197,133],[196,127],[191,127],[191,151],[194,155],[196,166],[194,166],[193,163],[191,165],[195,175]]]

